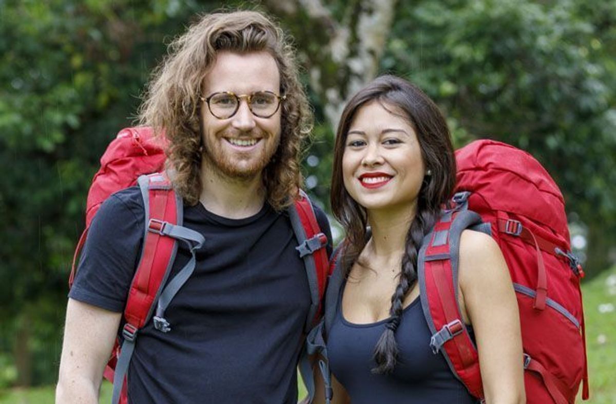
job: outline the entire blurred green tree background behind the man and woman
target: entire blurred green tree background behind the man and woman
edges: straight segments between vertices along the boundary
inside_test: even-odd
[[[326,208],[344,100],[395,73],[437,101],[456,146],[493,138],[545,165],[586,274],[616,260],[614,0],[0,0],[0,389],[57,378],[99,157],[166,44],[221,6],[257,7],[293,36],[317,118],[306,188]]]

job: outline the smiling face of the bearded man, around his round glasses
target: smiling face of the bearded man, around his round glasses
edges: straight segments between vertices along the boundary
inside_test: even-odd
[[[280,73],[269,53],[220,52],[205,76],[201,94],[203,98],[218,92],[241,96],[267,91],[279,95],[279,90]],[[219,119],[202,101],[204,162],[223,177],[250,180],[260,176],[280,143],[281,109],[270,117],[258,117],[251,112],[248,98],[241,97],[237,112]]]

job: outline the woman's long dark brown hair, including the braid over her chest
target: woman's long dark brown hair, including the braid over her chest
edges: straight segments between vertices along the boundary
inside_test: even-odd
[[[417,281],[417,258],[423,237],[436,222],[442,205],[452,196],[455,186],[455,158],[447,122],[438,106],[416,85],[395,76],[381,76],[367,85],[347,103],[336,132],[331,174],[331,209],[346,231],[342,263],[347,274],[367,243],[367,213],[344,188],[342,155],[347,132],[355,114],[370,101],[407,119],[417,135],[426,172],[417,200],[417,212],[407,232],[399,283],[391,297],[391,315],[375,346],[373,373],[391,373],[398,347],[395,330],[400,324],[405,296]],[[429,170],[429,171],[428,171]]]

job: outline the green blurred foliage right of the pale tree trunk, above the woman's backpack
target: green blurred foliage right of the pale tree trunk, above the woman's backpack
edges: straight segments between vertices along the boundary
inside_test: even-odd
[[[615,20],[611,1],[400,2],[381,63],[437,100],[457,145],[493,138],[545,165],[590,228],[590,273],[616,239]]]

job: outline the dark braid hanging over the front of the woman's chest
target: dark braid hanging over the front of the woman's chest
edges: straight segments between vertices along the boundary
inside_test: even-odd
[[[394,295],[391,297],[391,309],[389,309],[391,318],[387,321],[385,330],[376,343],[374,354],[376,367],[372,369],[372,373],[391,373],[394,371],[398,356],[395,331],[398,325],[400,325],[403,301],[408,291],[417,283],[418,248],[421,247],[424,236],[428,234],[434,225],[437,212],[432,212],[431,210],[419,212],[408,229],[405,252],[402,256],[400,280],[395,288]]]

